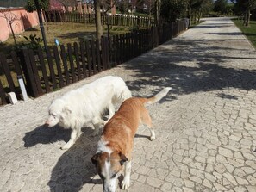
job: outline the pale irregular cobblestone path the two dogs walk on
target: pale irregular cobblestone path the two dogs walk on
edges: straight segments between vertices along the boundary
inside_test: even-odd
[[[1,107],[0,191],[102,191],[91,164],[99,137],[91,136],[91,128],[61,151],[70,132],[42,125],[56,96],[118,75],[134,96],[173,88],[149,108],[156,139],[147,139],[142,126],[136,134],[128,191],[255,192],[255,70],[256,52],[233,22],[209,18],[126,64]]]

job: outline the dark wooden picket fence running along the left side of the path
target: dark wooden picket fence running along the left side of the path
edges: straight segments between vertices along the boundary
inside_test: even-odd
[[[48,47],[47,53],[41,48],[13,51],[9,58],[0,53],[0,104],[9,102],[9,92],[22,98],[17,77],[24,80],[28,96],[41,96],[146,53],[184,32],[185,23],[182,20],[109,39]]]

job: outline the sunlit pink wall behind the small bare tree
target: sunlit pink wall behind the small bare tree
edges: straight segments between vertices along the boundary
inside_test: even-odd
[[[15,34],[22,33],[25,29],[39,25],[37,12],[28,13],[25,9],[1,9],[0,10],[0,42],[8,40],[11,35],[9,23],[2,17],[4,13],[13,13],[18,15],[18,20],[12,23]]]

